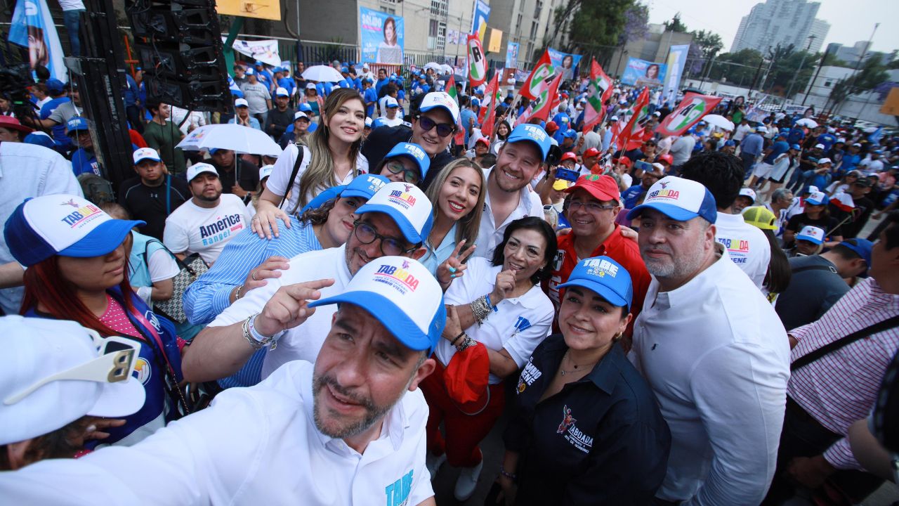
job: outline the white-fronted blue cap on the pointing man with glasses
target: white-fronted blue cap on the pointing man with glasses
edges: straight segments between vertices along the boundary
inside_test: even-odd
[[[434,224],[433,207],[424,192],[408,183],[388,183],[356,209],[356,214],[383,212],[396,222],[406,240],[424,242]]]

